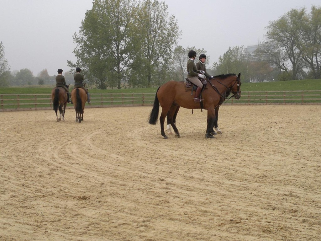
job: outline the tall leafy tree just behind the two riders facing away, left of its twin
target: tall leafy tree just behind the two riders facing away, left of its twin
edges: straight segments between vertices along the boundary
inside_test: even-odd
[[[92,84],[100,89],[121,88],[133,56],[134,0],[95,0],[82,27],[74,34],[77,62]]]

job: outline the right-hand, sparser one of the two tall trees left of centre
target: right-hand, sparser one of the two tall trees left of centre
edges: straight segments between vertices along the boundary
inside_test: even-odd
[[[134,85],[138,84],[138,80],[146,87],[158,83],[156,73],[172,58],[172,48],[181,32],[175,16],[169,16],[167,9],[164,2],[146,0],[134,10],[137,15],[135,39],[138,49],[132,64],[133,75],[129,80]]]

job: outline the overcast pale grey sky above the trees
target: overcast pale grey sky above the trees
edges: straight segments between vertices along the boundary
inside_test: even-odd
[[[212,65],[231,46],[262,41],[265,27],[293,8],[320,6],[320,0],[165,0],[178,20],[184,48],[204,48]],[[28,68],[37,76],[47,68],[69,71],[74,32],[92,0],[0,0],[0,42],[11,71]],[[200,53],[197,53],[200,54]]]

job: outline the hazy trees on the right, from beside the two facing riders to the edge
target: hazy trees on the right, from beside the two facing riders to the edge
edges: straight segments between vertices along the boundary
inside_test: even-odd
[[[234,46],[213,64],[215,72],[241,72],[244,82],[321,78],[321,7],[312,6],[309,13],[292,9],[266,30],[256,58],[249,58],[244,46]]]

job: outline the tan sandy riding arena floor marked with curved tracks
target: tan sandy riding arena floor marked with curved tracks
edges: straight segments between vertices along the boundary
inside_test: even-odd
[[[0,240],[321,240],[321,105],[151,110],[0,112]]]

